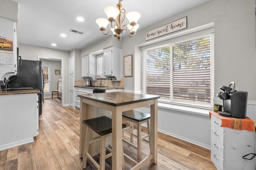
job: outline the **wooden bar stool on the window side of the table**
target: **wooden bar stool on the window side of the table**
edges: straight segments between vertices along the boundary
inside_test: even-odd
[[[123,111],[123,119],[130,121],[130,126],[123,129],[123,131],[130,129],[130,141],[124,139],[123,141],[128,145],[137,149],[137,162],[141,161],[141,141],[150,140],[150,114],[142,113],[135,110]],[[147,122],[148,134],[141,136],[141,124]],[[133,123],[137,124],[137,134],[133,132]],[[124,135],[124,133],[123,133]],[[137,137],[137,146],[133,143],[133,136]],[[148,139],[146,139],[148,137]]]

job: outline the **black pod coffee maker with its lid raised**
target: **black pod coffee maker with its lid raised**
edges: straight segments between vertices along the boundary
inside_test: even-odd
[[[217,96],[223,100],[223,111],[218,111],[218,114],[244,119],[246,118],[248,92],[236,91],[235,88],[236,84],[234,82],[231,82],[228,87],[220,87],[222,92],[219,92]]]

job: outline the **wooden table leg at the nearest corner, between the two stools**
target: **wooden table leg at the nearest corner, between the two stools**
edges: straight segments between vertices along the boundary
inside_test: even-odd
[[[122,168],[122,110],[115,107],[112,111],[112,170]]]

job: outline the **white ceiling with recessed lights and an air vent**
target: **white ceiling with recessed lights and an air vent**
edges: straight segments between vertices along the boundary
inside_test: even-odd
[[[104,8],[118,0],[13,0],[18,2],[18,41],[28,45],[71,51],[83,49],[103,35],[95,20],[106,18]],[[139,29],[164,20],[209,0],[122,0],[126,13],[141,14]],[[82,16],[83,22],[75,19]],[[126,19],[128,23],[128,20]],[[171,22],[171,21],[170,21]],[[109,25],[108,25],[109,27]],[[84,32],[73,33],[70,29]],[[60,37],[64,33],[67,37]],[[111,33],[112,34],[112,33]],[[135,35],[136,36],[136,35]],[[51,43],[56,43],[53,47]]]

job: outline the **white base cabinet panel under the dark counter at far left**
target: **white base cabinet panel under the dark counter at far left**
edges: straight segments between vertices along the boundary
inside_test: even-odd
[[[37,101],[37,93],[0,95],[0,150],[34,141],[39,132]]]

